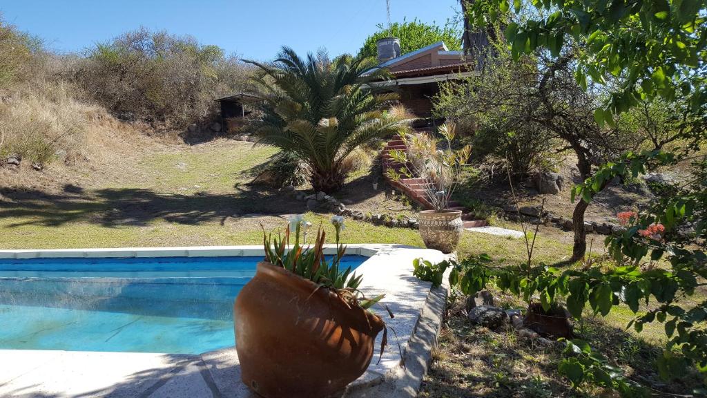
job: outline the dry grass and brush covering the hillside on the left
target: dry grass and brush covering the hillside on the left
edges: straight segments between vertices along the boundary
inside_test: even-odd
[[[0,181],[22,185],[32,178],[11,172],[52,162],[100,164],[139,132],[208,123],[214,98],[242,90],[247,74],[190,37],[141,28],[59,55],[0,19]]]

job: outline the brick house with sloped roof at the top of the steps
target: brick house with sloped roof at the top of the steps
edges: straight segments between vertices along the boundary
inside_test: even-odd
[[[403,55],[397,38],[382,38],[376,44],[378,67],[388,69],[392,79],[375,86],[395,88],[400,103],[416,117],[413,126],[434,130],[440,121],[432,118],[432,98],[440,82],[473,76],[471,59],[462,51],[450,51],[442,41]]]

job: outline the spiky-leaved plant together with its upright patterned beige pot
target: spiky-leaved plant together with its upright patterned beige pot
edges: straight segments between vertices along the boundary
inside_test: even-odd
[[[461,210],[450,210],[449,202],[459,182],[462,166],[469,159],[471,147],[452,149],[455,125],[439,127],[441,140],[425,134],[400,134],[407,150],[392,149],[390,157],[402,166],[388,169],[387,176],[411,191],[431,210],[419,212],[420,235],[425,246],[443,253],[457,248],[464,232]]]

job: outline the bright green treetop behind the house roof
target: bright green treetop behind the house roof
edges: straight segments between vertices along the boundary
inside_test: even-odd
[[[438,25],[423,23],[414,19],[403,23],[391,23],[390,28],[385,28],[382,24],[377,25],[378,31],[366,38],[361,50],[358,50],[359,57],[375,57],[378,53],[375,42],[380,38],[390,36],[400,39],[400,52],[419,50],[422,47],[443,41],[450,50],[462,49],[462,31],[449,21],[440,28]]]

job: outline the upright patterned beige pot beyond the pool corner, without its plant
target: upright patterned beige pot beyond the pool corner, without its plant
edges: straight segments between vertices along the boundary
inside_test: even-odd
[[[422,210],[420,235],[428,249],[451,253],[457,248],[464,232],[461,210]]]

